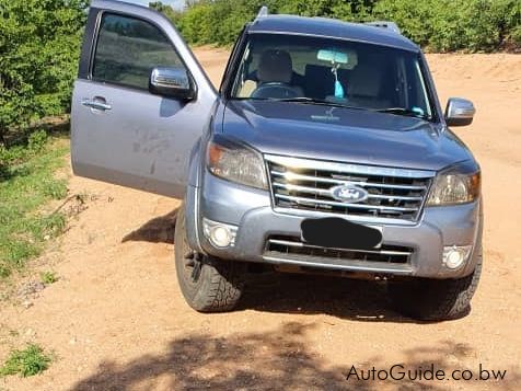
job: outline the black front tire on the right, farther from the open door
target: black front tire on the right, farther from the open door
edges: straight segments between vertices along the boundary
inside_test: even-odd
[[[421,321],[443,321],[465,317],[482,274],[483,251],[478,249],[474,272],[459,279],[417,278],[387,285],[396,310]]]

